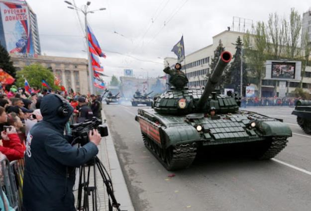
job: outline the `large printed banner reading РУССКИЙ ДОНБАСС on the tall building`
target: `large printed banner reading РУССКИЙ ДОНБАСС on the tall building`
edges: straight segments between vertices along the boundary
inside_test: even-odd
[[[9,53],[34,54],[27,4],[0,0],[0,11],[6,50]]]

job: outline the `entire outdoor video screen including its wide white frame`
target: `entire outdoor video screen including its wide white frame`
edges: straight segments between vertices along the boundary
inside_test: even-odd
[[[267,61],[266,77],[270,80],[300,81],[301,61]]]

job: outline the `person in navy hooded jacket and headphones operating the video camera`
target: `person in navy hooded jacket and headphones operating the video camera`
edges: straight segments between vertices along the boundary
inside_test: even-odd
[[[76,211],[73,186],[75,168],[97,153],[101,135],[90,131],[90,142],[73,147],[64,136],[73,107],[55,94],[42,99],[43,120],[27,134],[23,183],[24,211]]]

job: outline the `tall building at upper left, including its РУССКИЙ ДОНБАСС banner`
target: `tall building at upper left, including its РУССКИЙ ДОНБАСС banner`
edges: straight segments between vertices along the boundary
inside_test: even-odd
[[[0,44],[10,53],[41,54],[37,16],[26,0],[0,0]]]

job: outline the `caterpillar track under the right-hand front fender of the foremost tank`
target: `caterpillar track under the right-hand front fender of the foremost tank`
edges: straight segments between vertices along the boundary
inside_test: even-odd
[[[287,137],[271,137],[271,140],[266,140],[262,143],[257,158],[259,160],[267,160],[274,158],[287,145]]]

